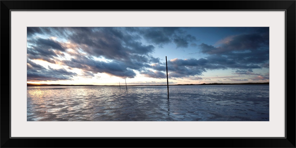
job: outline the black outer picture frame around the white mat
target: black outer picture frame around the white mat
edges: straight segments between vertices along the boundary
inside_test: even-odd
[[[168,4],[169,3],[169,4]],[[1,0],[1,147],[295,147],[295,36],[296,1],[6,1]],[[104,138],[11,138],[11,49],[12,10],[284,10],[286,15],[285,51],[285,137],[284,138],[192,138],[192,137],[104,137]],[[8,59],[8,57],[10,57]],[[7,62],[9,60],[9,62]],[[288,72],[289,71],[289,72]],[[10,79],[8,79],[8,77]],[[287,83],[288,82],[288,83]],[[287,85],[293,83],[293,85]],[[9,86],[8,86],[9,85]],[[293,89],[293,90],[292,90]],[[292,93],[293,92],[293,93]],[[242,127],[243,128],[243,127]],[[172,129],[173,130],[173,129]],[[271,129],[272,130],[272,129]],[[34,132],[34,131],[32,131]],[[161,131],[160,131],[161,132]],[[108,142],[111,139],[112,142]],[[123,139],[123,142],[117,142]],[[164,139],[166,141],[164,141]],[[116,140],[116,141],[115,141]],[[155,140],[155,141],[152,141]],[[157,142],[157,141],[161,142]],[[180,140],[180,141],[177,141]],[[136,142],[136,141],[140,141]],[[143,141],[143,142],[141,142]]]

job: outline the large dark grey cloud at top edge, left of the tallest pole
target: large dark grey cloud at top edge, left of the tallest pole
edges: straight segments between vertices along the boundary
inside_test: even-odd
[[[132,35],[126,28],[70,28],[72,34],[68,36],[79,49],[96,57],[128,62],[136,55],[146,56],[155,47],[142,44],[139,35]],[[151,57],[151,56],[150,56]],[[152,57],[152,60],[156,58]],[[139,61],[140,62],[140,61]]]

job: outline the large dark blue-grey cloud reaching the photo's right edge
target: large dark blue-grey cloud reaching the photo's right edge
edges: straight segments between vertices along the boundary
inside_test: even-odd
[[[220,46],[200,44],[202,53],[209,54],[206,59],[222,69],[254,69],[269,65],[269,33],[260,28],[258,33],[230,36],[221,41]],[[213,67],[214,69],[217,67]]]

